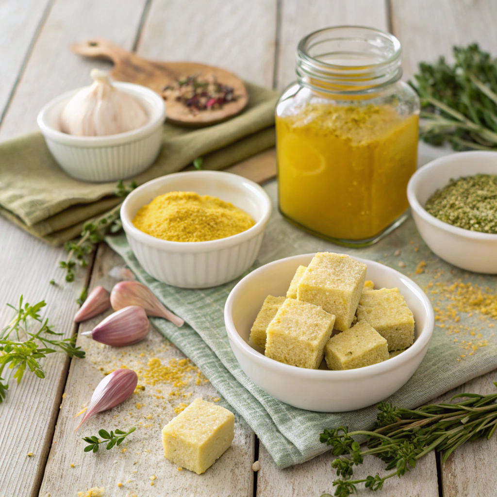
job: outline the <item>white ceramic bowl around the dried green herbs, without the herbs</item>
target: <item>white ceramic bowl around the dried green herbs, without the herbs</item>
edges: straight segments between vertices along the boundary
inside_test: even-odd
[[[497,235],[457,228],[428,214],[423,207],[451,178],[478,173],[497,174],[496,152],[457,152],[440,157],[414,173],[407,196],[417,230],[434,253],[463,269],[497,274]]]

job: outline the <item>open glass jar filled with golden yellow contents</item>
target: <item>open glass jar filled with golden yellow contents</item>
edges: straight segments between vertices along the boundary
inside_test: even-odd
[[[383,31],[322,29],[297,49],[276,106],[282,215],[334,243],[365,246],[407,217],[419,99],[400,81],[401,45]]]

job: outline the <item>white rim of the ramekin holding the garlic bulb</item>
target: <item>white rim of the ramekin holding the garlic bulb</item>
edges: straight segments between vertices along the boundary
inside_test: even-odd
[[[154,131],[157,127],[163,124],[166,119],[166,104],[164,99],[156,93],[154,90],[136,83],[125,83],[113,81],[112,85],[116,88],[122,89],[133,96],[144,100],[146,97],[152,100],[152,105],[155,107],[154,115],[143,125],[138,128],[126,131],[124,133],[117,133],[114,135],[105,136],[78,136],[69,135],[68,133],[63,133],[46,122],[48,112],[58,105],[63,100],[69,100],[70,97],[75,95],[78,91],[86,88],[87,86],[81,86],[79,88],[66,91],[61,95],[53,98],[48,103],[46,103],[38,113],[36,121],[38,126],[43,133],[43,135],[48,138],[55,140],[60,143],[65,143],[73,146],[87,147],[87,146],[109,146],[117,143],[128,142],[133,140],[138,140]]]

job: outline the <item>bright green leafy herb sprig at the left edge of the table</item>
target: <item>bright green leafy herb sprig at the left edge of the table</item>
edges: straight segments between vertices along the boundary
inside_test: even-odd
[[[8,389],[8,379],[2,378],[3,370],[8,364],[8,369],[15,369],[13,378],[19,383],[26,367],[38,378],[45,378],[45,372],[38,359],[60,349],[69,357],[84,357],[81,347],[76,347],[76,336],[72,338],[51,339],[46,335],[62,335],[56,333],[53,326],[48,324],[48,319],[40,318],[40,310],[46,306],[44,300],[34,306],[26,303],[23,305],[23,296],[19,299],[19,307],[7,304],[15,311],[15,316],[10,323],[0,331],[0,403],[5,399]],[[31,323],[39,324],[36,332],[29,331]],[[15,339],[11,339],[13,335]],[[14,336],[15,335],[15,336]],[[23,340],[23,338],[26,338]],[[52,348],[54,347],[54,348]]]

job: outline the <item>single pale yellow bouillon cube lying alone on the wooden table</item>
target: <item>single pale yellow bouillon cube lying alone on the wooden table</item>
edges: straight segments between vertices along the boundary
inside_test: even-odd
[[[195,399],[162,429],[164,457],[197,475],[231,445],[235,416],[224,407]]]

